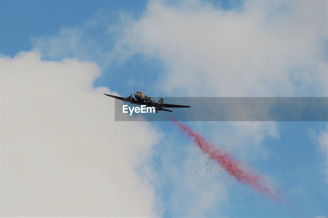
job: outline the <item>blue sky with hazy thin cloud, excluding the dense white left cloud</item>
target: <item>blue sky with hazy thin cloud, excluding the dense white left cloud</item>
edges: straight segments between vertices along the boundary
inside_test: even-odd
[[[317,18],[303,14],[307,12],[304,11],[306,2],[304,7],[303,3],[2,1],[0,53],[14,57],[21,51],[37,50],[43,60],[77,58],[93,62],[101,71],[93,81],[93,87],[108,87],[122,96],[142,90],[148,95],[163,97],[327,97],[327,83],[322,80],[327,76],[327,51],[321,50],[327,36],[320,30],[320,24],[327,26],[327,20],[313,25]],[[318,1],[318,8],[322,8],[320,4],[327,3]],[[308,11],[322,14],[321,11],[317,13],[318,8],[309,7]],[[304,29],[308,31],[304,31],[313,34],[304,33],[304,37],[297,38],[295,35],[303,30],[295,25],[294,19],[287,18],[289,15],[292,18],[304,15],[300,26],[305,25]],[[165,22],[170,17],[174,22]],[[214,23],[210,24],[209,20]],[[197,26],[197,21],[201,25]],[[157,22],[164,33],[152,35],[152,31],[156,31],[153,22]],[[216,28],[215,22],[218,25],[224,23],[222,27],[227,26],[226,31],[219,30],[217,35],[211,32]],[[208,29],[208,34],[208,27],[203,24],[213,27]],[[188,25],[192,27],[189,29]],[[200,29],[202,26],[204,29]],[[239,30],[246,34],[245,37],[238,36]],[[204,35],[201,35],[202,31],[205,31]],[[210,38],[212,35],[214,41]],[[273,35],[269,41],[272,47],[261,49],[268,45],[269,35]],[[225,36],[235,39],[228,43],[231,49],[226,50],[223,46]],[[198,41],[204,42],[198,46]],[[296,41],[295,45],[291,41]],[[221,49],[210,49],[216,48],[216,43],[224,53],[222,62],[212,60],[215,55],[221,55]],[[290,47],[283,50],[287,45]],[[250,48],[254,50],[248,50]],[[209,54],[207,50],[211,50]],[[244,51],[248,53],[244,54]],[[262,61],[262,57],[267,62]],[[240,70],[245,71],[240,73]],[[295,205],[304,209],[305,216],[328,217],[327,148],[324,147],[327,138],[323,139],[326,141],[323,149],[319,145],[320,134],[327,131],[327,123],[186,124],[267,175],[277,189],[283,190]],[[110,125],[115,127],[116,124]],[[196,155],[199,151],[173,128],[172,123],[152,122],[150,126],[159,131],[161,137],[152,146],[152,155],[135,171],[141,178],[149,177],[145,170],[148,168],[156,175],[148,179],[157,196],[155,207],[160,208],[160,216],[295,216],[234,180],[225,185],[226,175],[219,174],[215,166],[209,175],[203,156]],[[195,174],[195,171],[202,173]]]

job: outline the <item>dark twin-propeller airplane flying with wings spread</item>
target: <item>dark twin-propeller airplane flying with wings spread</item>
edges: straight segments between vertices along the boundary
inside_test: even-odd
[[[130,102],[131,104],[138,104],[138,105],[146,105],[146,107],[154,107],[156,110],[156,113],[158,113],[158,111],[169,111],[169,112],[173,112],[171,110],[168,109],[164,109],[164,107],[175,107],[175,108],[181,108],[181,107],[190,107],[190,106],[186,106],[186,105],[177,105],[177,104],[164,104],[164,99],[161,98],[158,102],[155,102],[152,97],[148,97],[145,93],[141,92],[141,91],[137,91],[134,93],[134,97],[136,99],[134,99],[132,97],[132,94],[127,97],[127,98],[123,98],[123,97],[118,97],[118,96],[114,96],[114,95],[107,95],[109,97],[115,98],[115,99],[119,99],[122,101],[127,101]]]

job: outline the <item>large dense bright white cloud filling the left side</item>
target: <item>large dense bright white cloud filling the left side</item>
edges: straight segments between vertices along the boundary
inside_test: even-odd
[[[160,216],[147,160],[160,134],[114,122],[96,64],[1,58],[1,216]],[[150,172],[152,173],[152,172]]]

